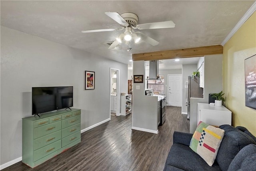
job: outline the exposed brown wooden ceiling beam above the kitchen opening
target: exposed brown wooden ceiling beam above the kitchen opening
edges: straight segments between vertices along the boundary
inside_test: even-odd
[[[197,48],[186,48],[177,50],[165,50],[158,52],[148,52],[142,54],[132,54],[133,61],[167,60],[175,58],[192,58],[205,55],[223,54],[223,46],[202,46]]]

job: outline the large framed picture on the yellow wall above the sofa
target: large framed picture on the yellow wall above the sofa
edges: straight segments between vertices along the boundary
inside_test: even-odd
[[[244,60],[245,105],[256,109],[256,55]]]

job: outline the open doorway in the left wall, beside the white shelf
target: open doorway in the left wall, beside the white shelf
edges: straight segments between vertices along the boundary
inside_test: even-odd
[[[110,68],[110,118],[120,116],[119,69]]]

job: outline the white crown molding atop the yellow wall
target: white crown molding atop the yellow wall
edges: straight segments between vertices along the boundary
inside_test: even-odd
[[[231,32],[228,34],[228,36],[223,40],[221,43],[222,46],[228,42],[228,40],[237,32],[237,30],[248,20],[248,18],[256,11],[256,2],[252,4],[250,9],[244,14],[244,16],[241,18],[241,20],[236,24],[236,26],[231,30]]]

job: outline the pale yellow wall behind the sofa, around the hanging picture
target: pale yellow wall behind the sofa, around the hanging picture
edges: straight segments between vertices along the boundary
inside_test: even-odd
[[[256,12],[223,48],[225,105],[232,111],[232,125],[244,126],[256,136],[256,109],[245,106],[244,60],[256,54]]]

